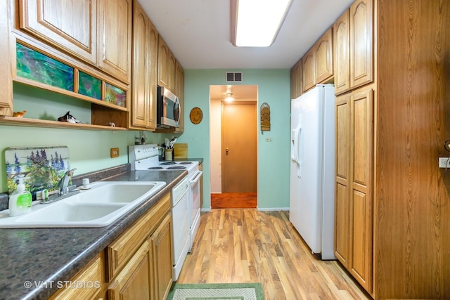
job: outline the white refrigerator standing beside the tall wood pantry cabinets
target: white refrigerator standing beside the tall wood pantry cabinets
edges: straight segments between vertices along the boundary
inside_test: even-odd
[[[335,259],[335,92],[319,84],[291,101],[289,219],[311,252]]]

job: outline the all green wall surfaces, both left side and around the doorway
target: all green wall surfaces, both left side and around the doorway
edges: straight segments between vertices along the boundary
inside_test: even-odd
[[[258,145],[258,208],[285,209],[289,207],[289,136],[290,136],[290,71],[289,70],[185,70],[185,133],[179,143],[188,143],[189,157],[203,157],[204,203],[210,207],[210,85],[222,85],[225,72],[243,72],[243,84],[258,86],[258,107],[269,103],[271,131],[259,136]],[[81,102],[81,103],[80,103]],[[38,105],[36,105],[38,104]],[[29,110],[26,117],[59,117],[70,110],[72,115],[89,122],[89,105],[58,93],[27,86],[14,86],[14,110]],[[189,121],[193,107],[203,110],[203,122]],[[36,115],[39,108],[41,112]],[[34,114],[34,115],[33,115]],[[67,145],[70,164],[75,175],[89,173],[128,162],[128,145],[134,144],[139,131],[96,131],[49,129],[29,126],[0,125],[0,192],[6,192],[4,150],[19,146]],[[162,143],[161,133],[146,132],[148,143]],[[273,138],[266,142],[265,137]],[[120,157],[110,158],[110,148],[119,148]]]

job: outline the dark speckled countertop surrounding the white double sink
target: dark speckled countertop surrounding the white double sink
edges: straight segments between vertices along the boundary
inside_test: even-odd
[[[70,280],[187,174],[187,171],[127,171],[103,179],[167,183],[160,192],[110,226],[0,229],[0,299],[49,298],[58,289],[58,282]]]

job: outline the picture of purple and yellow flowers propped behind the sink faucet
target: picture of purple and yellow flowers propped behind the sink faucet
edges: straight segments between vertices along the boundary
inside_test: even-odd
[[[8,193],[13,193],[17,179],[23,177],[33,200],[40,199],[37,192],[41,190],[49,190],[49,194],[57,191],[60,179],[70,170],[66,146],[6,148],[5,162]]]

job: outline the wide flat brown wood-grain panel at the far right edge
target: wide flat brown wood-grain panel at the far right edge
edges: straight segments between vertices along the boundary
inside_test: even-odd
[[[375,294],[450,299],[450,2],[378,11]]]

